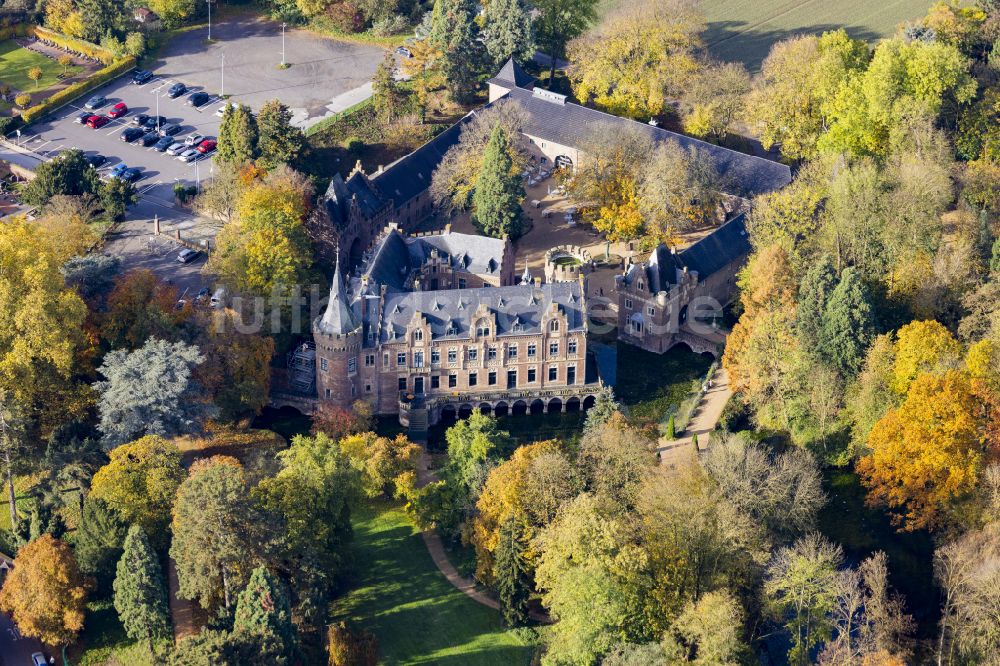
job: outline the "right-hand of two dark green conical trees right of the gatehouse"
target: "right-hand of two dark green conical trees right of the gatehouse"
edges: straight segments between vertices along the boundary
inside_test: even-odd
[[[865,353],[875,339],[874,317],[860,275],[852,267],[845,268],[823,309],[819,332],[820,356],[843,376],[853,377],[861,371]]]

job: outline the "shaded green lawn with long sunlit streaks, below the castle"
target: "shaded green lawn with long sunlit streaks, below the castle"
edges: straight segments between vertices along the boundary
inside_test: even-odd
[[[388,504],[358,509],[354,538],[358,580],[334,605],[334,619],[373,632],[379,663],[530,662],[533,646],[505,630],[499,613],[445,580],[402,509]]]

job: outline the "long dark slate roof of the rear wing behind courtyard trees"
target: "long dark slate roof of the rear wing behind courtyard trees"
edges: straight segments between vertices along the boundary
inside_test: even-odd
[[[548,101],[519,87],[511,88],[505,97],[516,101],[526,111],[527,120],[523,128],[526,134],[564,146],[578,147],[602,124],[632,123],[654,141],[672,139],[684,148],[694,146],[709,154],[719,173],[730,184],[726,188],[730,194],[751,197],[780,189],[792,180],[791,169],[784,164],[692,139],[660,127],[619,118],[571,102],[560,104]]]

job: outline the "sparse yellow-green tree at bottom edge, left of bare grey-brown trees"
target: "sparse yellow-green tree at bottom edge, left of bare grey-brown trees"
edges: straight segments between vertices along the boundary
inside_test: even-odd
[[[830,616],[837,603],[840,546],[812,533],[782,548],[767,567],[768,602],[791,634],[791,664],[810,663],[810,652],[830,638]]]

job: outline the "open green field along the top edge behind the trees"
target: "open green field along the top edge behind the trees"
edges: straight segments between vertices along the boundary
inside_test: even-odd
[[[603,0],[603,9],[618,0]],[[896,26],[927,13],[932,0],[702,0],[708,20],[705,43],[721,60],[760,68],[771,45],[792,35],[846,28],[851,36],[874,41]]]

